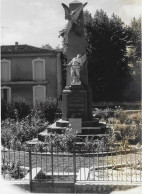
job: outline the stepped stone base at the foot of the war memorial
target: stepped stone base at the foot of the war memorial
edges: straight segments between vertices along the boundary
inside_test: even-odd
[[[76,120],[76,123],[74,123]],[[81,121],[81,119],[69,119],[66,120],[58,120],[52,125],[48,127],[45,131],[38,134],[38,140],[45,141],[45,139],[50,139],[51,134],[64,134],[65,130],[71,125],[71,128],[77,131],[78,137],[81,139],[85,139],[88,137],[89,139],[93,137],[94,139],[98,139],[102,136],[107,135],[108,128],[105,123],[100,123],[98,119],[93,121]]]

